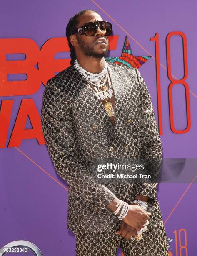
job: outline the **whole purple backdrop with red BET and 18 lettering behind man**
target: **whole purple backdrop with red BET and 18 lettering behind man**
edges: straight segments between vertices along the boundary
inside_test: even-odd
[[[68,184],[47,152],[40,112],[46,82],[70,65],[68,20],[83,9],[112,23],[106,60],[139,69],[147,84],[163,157],[176,159],[165,166],[170,179],[157,188],[169,255],[195,256],[195,0],[0,1],[0,248],[75,255],[75,236],[66,227]]]

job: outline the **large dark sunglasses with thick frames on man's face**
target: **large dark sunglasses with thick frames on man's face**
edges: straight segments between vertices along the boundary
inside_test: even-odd
[[[82,27],[75,28],[72,33],[78,33],[85,36],[95,36],[98,28],[103,31],[105,36],[110,36],[112,33],[112,24],[108,21],[87,22]]]

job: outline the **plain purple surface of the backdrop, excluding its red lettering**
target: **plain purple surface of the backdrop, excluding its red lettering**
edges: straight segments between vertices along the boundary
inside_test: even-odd
[[[163,65],[163,67],[160,66],[160,76],[163,118],[161,140],[164,157],[197,158],[195,82],[197,2],[195,0],[187,3],[183,0],[173,2],[169,0],[96,0],[96,3],[103,10],[91,0],[1,1],[0,38],[31,38],[41,47],[50,38],[65,36],[65,27],[69,18],[86,8],[96,10],[104,20],[112,22],[114,35],[119,35],[117,49],[111,51],[110,56],[121,55],[126,35],[134,56],[149,55],[145,49],[155,56],[155,43],[150,41],[150,38],[155,36],[155,33],[159,33],[160,63]],[[166,70],[165,39],[172,31],[181,31],[187,37],[188,77],[186,81],[190,87],[192,126],[185,134],[175,134],[170,130],[167,94],[170,81]],[[173,37],[170,40],[170,46],[172,74],[182,77],[181,37]],[[158,124],[155,60],[151,58],[139,70],[150,91]],[[186,127],[183,88],[180,85],[173,89],[174,119],[177,129]],[[34,95],[0,97],[0,100],[14,100],[7,139],[10,138],[21,99],[32,98],[40,113],[43,91],[42,84],[40,90]],[[29,120],[26,128],[32,128]],[[66,228],[68,192],[39,166],[67,187],[67,183],[56,174],[46,146],[38,145],[36,139],[23,140],[21,146],[17,148],[0,149],[0,248],[11,241],[27,240],[35,243],[44,256],[73,256],[75,255],[75,237]],[[195,182],[191,185],[188,183],[160,184],[158,187],[158,200],[167,236],[174,238],[170,255],[196,255],[194,231],[197,224],[197,200],[194,196],[196,192]],[[180,242],[178,233],[182,229],[186,231],[181,231]],[[177,230],[177,252],[175,230]],[[180,253],[180,244],[185,245],[184,232],[187,234],[188,254],[184,248],[181,251],[182,254]],[[117,255],[121,255],[120,249]]]

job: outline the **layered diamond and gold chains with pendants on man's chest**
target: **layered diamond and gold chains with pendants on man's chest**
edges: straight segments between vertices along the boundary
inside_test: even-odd
[[[114,116],[113,105],[111,102],[107,102],[108,98],[113,96],[112,84],[110,81],[110,76],[108,73],[107,62],[105,61],[105,67],[102,72],[98,74],[90,73],[87,70],[83,69],[78,63],[77,59],[75,60],[74,67],[82,74],[85,80],[88,82],[92,90],[95,92],[95,95],[99,100],[104,100],[104,108],[107,111],[109,116]]]

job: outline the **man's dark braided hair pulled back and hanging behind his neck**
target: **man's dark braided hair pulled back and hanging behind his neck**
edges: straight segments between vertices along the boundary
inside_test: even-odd
[[[75,49],[72,46],[72,44],[70,43],[70,36],[73,34],[72,31],[73,29],[77,28],[77,24],[79,23],[78,21],[78,17],[80,17],[81,15],[83,15],[84,13],[86,13],[87,11],[92,11],[95,12],[94,10],[82,10],[80,12],[78,12],[77,14],[75,14],[75,16],[73,16],[72,18],[70,18],[67,26],[66,26],[66,38],[68,41],[68,46],[70,47],[70,65],[72,66],[75,63],[75,59],[76,59],[76,55],[75,55]],[[97,12],[95,12],[97,13]]]

